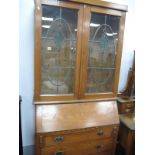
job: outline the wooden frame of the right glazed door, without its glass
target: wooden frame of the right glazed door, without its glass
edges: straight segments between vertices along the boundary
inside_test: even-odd
[[[85,93],[86,83],[87,83],[88,55],[89,55],[89,49],[88,49],[89,33],[90,33],[89,24],[90,24],[92,12],[115,15],[115,16],[120,17],[117,57],[116,57],[116,64],[115,64],[116,69],[114,73],[114,86],[113,86],[113,92],[109,92],[109,93],[108,92],[107,93],[90,93],[90,94]],[[121,64],[121,56],[122,56],[122,46],[123,46],[123,33],[124,33],[124,25],[125,25],[125,12],[113,10],[113,9],[101,8],[101,7],[85,6],[84,21],[85,21],[85,24],[83,26],[83,38],[82,38],[83,41],[82,41],[82,61],[81,61],[79,98],[80,99],[98,99],[98,98],[117,97],[120,64]]]

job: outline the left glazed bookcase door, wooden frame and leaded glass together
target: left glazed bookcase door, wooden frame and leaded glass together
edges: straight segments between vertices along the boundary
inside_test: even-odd
[[[82,11],[78,4],[42,1],[41,10],[36,13],[38,18],[41,14],[36,100],[77,98]]]

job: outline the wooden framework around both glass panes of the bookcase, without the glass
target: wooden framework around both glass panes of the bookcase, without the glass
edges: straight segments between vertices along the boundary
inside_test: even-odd
[[[77,55],[75,67],[75,83],[73,95],[41,95],[41,5],[59,6],[64,8],[77,9],[78,12],[78,33],[77,33]],[[85,5],[86,4],[86,5]],[[95,5],[95,6],[93,6]],[[98,7],[100,6],[100,7]],[[116,59],[116,70],[114,80],[114,91],[111,93],[98,93],[85,95],[87,62],[88,62],[88,40],[89,40],[89,23],[92,12],[104,13],[109,15],[120,16],[119,36],[118,36],[118,53]],[[69,0],[52,2],[49,0],[35,0],[35,68],[34,68],[34,101],[66,101],[66,100],[89,100],[104,99],[117,97],[121,55],[123,47],[123,33],[125,25],[125,15],[127,11],[126,5],[118,5],[109,2],[100,2],[98,0]],[[84,21],[84,22],[83,22]]]

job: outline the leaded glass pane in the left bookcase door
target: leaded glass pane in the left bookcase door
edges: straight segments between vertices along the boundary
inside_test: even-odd
[[[42,5],[41,94],[73,94],[77,10]]]

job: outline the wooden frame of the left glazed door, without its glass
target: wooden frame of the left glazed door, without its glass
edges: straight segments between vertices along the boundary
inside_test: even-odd
[[[65,95],[42,95],[41,94],[41,17],[42,17],[42,9],[41,5],[49,5],[49,6],[58,6],[69,9],[78,10],[78,32],[77,32],[77,42],[76,42],[76,64],[75,64],[75,82],[74,82],[74,92],[73,94],[65,94]],[[34,101],[63,101],[63,100],[75,100],[78,99],[79,93],[79,78],[80,78],[80,63],[81,63],[81,34],[83,25],[83,5],[81,4],[73,4],[71,2],[52,2],[49,0],[39,0],[35,1],[35,92],[34,92]]]

